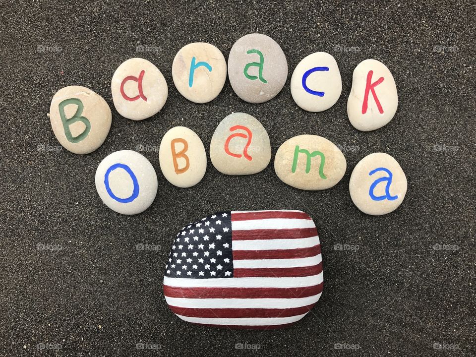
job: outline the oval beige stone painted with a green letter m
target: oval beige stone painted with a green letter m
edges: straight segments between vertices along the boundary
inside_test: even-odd
[[[304,190],[327,189],[346,173],[344,154],[331,141],[318,135],[298,135],[276,152],[274,170],[290,186]]]

